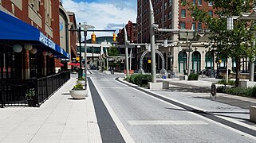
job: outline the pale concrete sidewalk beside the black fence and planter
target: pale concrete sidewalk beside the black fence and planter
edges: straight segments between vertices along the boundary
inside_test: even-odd
[[[102,142],[93,100],[69,95],[71,78],[39,108],[0,109],[0,142]]]

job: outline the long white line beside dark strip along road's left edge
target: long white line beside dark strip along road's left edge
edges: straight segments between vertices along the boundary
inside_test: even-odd
[[[93,82],[93,80],[92,80],[92,82]],[[119,129],[121,135],[124,137],[124,141],[129,142],[129,143],[134,143],[135,141],[133,141],[132,137],[130,136],[128,131],[125,129],[122,122],[120,122],[120,120],[117,117],[117,115],[115,114],[114,110],[112,110],[112,107],[108,104],[107,100],[104,98],[104,95],[101,93],[101,91],[99,90],[99,88],[96,86],[96,84],[94,82],[93,82],[93,84],[94,84],[94,87],[96,88],[96,91],[98,91],[100,98],[104,102],[104,105],[106,106],[106,108],[108,110],[108,113],[110,114],[113,121],[115,122],[116,127]]]

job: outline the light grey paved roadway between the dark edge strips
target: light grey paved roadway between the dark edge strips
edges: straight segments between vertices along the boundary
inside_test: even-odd
[[[97,71],[92,73],[89,77],[126,142],[255,142],[255,137],[216,122],[215,118],[203,117],[193,110],[184,109],[184,106],[128,87],[115,80],[119,75],[104,75]],[[171,94],[185,97],[187,92],[175,91]],[[100,99],[93,98],[94,104]],[[190,104],[189,100],[187,104]],[[191,101],[191,104],[196,103]],[[109,124],[106,114],[97,118],[101,118],[103,124],[104,121]],[[116,131],[112,134],[115,135]],[[112,141],[118,142],[117,140],[120,138],[116,137],[116,141],[115,138]]]

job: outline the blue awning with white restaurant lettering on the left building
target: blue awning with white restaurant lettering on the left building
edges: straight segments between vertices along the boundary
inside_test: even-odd
[[[0,41],[8,41],[9,43],[33,44],[38,51],[47,50],[55,56],[69,58],[69,54],[65,52],[58,44],[51,41],[45,34],[32,25],[19,20],[16,17],[6,14],[0,10]]]

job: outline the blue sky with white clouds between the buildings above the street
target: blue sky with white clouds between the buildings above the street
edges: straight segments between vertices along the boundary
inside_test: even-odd
[[[76,14],[77,24],[93,25],[95,29],[122,29],[128,21],[136,23],[136,0],[61,0],[65,10]],[[90,37],[90,33],[88,34]],[[112,36],[112,33],[96,33]]]

